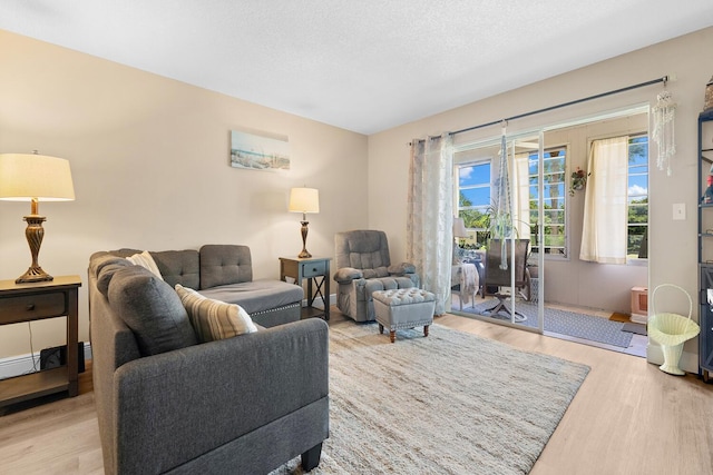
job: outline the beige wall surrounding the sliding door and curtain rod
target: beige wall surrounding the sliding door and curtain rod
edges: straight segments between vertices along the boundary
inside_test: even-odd
[[[406,234],[406,197],[409,167],[408,142],[448,130],[460,130],[479,123],[538,110],[557,103],[619,89],[665,75],[676,75],[668,90],[678,103],[676,111],[677,155],[673,176],[652,172],[651,236],[649,236],[649,286],[673,283],[685,288],[695,298],[697,295],[696,267],[696,206],[697,206],[697,126],[699,112],[703,109],[705,85],[713,73],[709,58],[713,49],[713,28],[687,34],[664,43],[624,55],[569,73],[536,82],[486,100],[449,110],[422,120],[404,125],[369,137],[369,222],[385,230],[397,246],[393,250],[402,255]],[[478,78],[472,78],[477,81]],[[553,125],[585,116],[595,116],[607,110],[623,109],[635,105],[656,102],[662,86],[649,86],[603,99],[570,106],[555,111],[514,120],[508,125],[512,133],[538,126]],[[413,98],[418,100],[418,98]],[[457,136],[457,141],[482,139],[499,135],[499,127],[480,129]],[[655,147],[652,147],[652,152]],[[673,204],[686,206],[687,218],[672,219]],[[393,204],[397,204],[395,206]],[[592,288],[597,281],[582,281]],[[661,295],[660,310],[686,313],[685,297]],[[694,313],[697,311],[694,308]],[[652,353],[656,353],[653,348]],[[649,358],[651,354],[649,353]],[[683,365],[687,370],[697,370],[697,339],[685,346]],[[658,358],[658,355],[653,357]]]

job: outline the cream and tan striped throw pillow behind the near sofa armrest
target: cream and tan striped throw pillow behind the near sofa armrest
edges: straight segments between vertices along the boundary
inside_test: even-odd
[[[180,284],[176,284],[176,293],[202,343],[257,331],[252,318],[240,305],[204,297]]]

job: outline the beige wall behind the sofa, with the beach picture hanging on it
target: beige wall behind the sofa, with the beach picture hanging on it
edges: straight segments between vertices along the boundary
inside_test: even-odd
[[[100,249],[211,243],[248,245],[255,278],[276,278],[277,257],[302,249],[301,215],[287,212],[294,186],[320,190],[321,212],[309,217],[313,255],[332,256],[334,232],[368,224],[365,136],[1,30],[0,71],[0,152],[38,149],[71,162],[77,199],[40,204],[39,260],[52,275],[86,283]],[[231,168],[235,128],[287,136],[290,171]],[[30,264],[29,210],[0,201],[0,279]],[[85,342],[86,296],[82,287]],[[35,350],[65,343],[56,320],[32,324]],[[29,353],[26,324],[0,327],[0,358]]]

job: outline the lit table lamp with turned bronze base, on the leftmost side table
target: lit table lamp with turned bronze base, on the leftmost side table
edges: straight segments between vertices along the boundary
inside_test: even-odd
[[[39,201],[71,201],[75,188],[71,181],[69,161],[62,158],[30,154],[0,154],[0,199],[8,201],[30,201],[30,215],[25,236],[30,246],[32,265],[16,283],[37,283],[52,280],[38,264],[40,246],[45,237],[39,216]]]

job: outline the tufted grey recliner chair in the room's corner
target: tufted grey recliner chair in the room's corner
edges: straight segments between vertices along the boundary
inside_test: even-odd
[[[336,307],[355,321],[375,319],[375,290],[419,287],[416,266],[391,265],[387,235],[378,230],[352,230],[334,236],[338,283]]]

